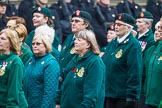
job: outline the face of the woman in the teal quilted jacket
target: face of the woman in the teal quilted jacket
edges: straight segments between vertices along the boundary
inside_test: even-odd
[[[32,41],[33,53],[36,56],[42,56],[46,54],[46,47],[40,38],[34,38]]]

